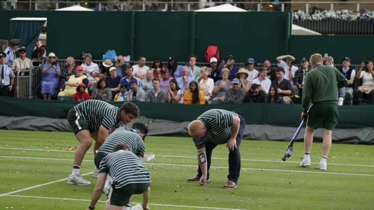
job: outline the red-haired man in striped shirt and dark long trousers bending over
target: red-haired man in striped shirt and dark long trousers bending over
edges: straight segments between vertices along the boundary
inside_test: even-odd
[[[187,179],[205,185],[209,181],[209,168],[212,150],[218,144],[226,143],[228,153],[228,181],[223,188],[235,188],[238,185],[241,159],[239,146],[242,142],[245,122],[242,116],[223,109],[210,109],[197,120],[188,124],[188,133],[197,148],[199,169],[197,175]]]

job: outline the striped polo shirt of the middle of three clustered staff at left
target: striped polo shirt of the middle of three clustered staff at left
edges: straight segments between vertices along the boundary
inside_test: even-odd
[[[144,157],[146,146],[144,141],[134,129],[128,127],[117,128],[101,145],[98,152],[112,153],[114,145],[125,143],[130,146],[132,153],[139,157]]]

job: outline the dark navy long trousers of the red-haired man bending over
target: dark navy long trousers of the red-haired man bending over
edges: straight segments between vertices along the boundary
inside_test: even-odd
[[[239,175],[240,175],[240,168],[241,168],[241,159],[240,159],[240,151],[239,146],[243,139],[243,133],[245,129],[245,121],[242,116],[238,115],[240,118],[240,127],[238,135],[236,136],[236,149],[234,151],[230,151],[228,153],[228,175],[227,179],[238,183]],[[210,162],[212,157],[212,151],[217,146],[217,144],[212,142],[205,143],[205,151],[206,151],[206,163],[207,163],[207,175],[206,180],[209,179],[209,168]],[[197,170],[197,176],[201,177],[203,174],[201,173],[201,168],[199,165],[199,169]]]

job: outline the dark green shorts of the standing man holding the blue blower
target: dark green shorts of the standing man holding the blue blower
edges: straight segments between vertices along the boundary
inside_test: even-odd
[[[306,122],[309,127],[317,129],[322,124],[324,129],[335,130],[337,122],[337,103],[318,103],[310,106]]]

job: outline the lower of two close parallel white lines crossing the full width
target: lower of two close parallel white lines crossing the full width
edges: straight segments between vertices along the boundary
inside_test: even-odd
[[[0,156],[4,158],[21,158],[21,159],[44,159],[44,160],[68,160],[73,161],[73,159],[57,159],[57,158],[43,158],[43,157],[11,157],[11,156]],[[196,157],[195,157],[196,158]],[[93,160],[83,160],[87,162],[93,162]],[[159,165],[159,166],[178,166],[178,167],[196,167],[196,165],[180,165],[180,164],[167,164],[167,163],[143,163],[145,165]],[[330,165],[330,164],[329,164]],[[210,168],[221,168],[228,169],[228,167],[220,166],[210,166]],[[312,171],[295,171],[295,170],[277,170],[277,169],[257,169],[257,168],[242,168],[245,170],[253,171],[277,171],[277,172],[299,172],[299,173],[314,173],[314,174],[334,174],[334,175],[362,175],[362,176],[374,176],[370,174],[349,174],[349,173],[333,173],[333,172],[312,172]]]

